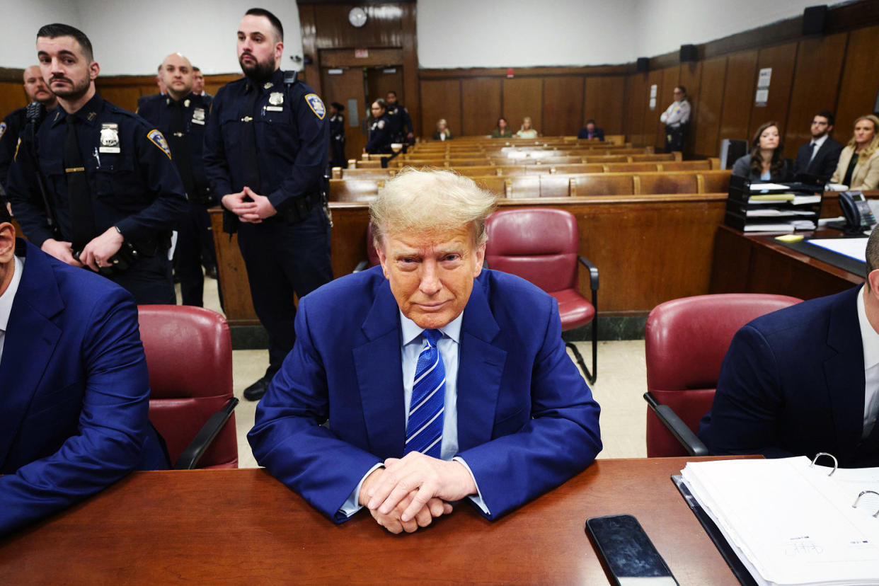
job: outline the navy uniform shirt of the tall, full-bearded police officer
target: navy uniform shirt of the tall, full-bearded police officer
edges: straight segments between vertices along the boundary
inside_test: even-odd
[[[257,91],[253,112],[243,112]],[[280,69],[263,82],[248,77],[224,85],[214,97],[205,132],[207,180],[217,198],[244,188],[243,125],[253,124],[259,195],[275,209],[320,192],[329,162],[330,125],[323,101],[301,81],[287,87]]]

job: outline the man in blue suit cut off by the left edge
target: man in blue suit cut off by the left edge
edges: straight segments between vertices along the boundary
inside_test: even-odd
[[[0,201],[0,535],[166,467],[131,294],[10,222]]]

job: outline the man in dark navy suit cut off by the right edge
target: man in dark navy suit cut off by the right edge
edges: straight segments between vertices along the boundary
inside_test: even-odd
[[[699,427],[713,453],[767,458],[832,453],[840,467],[879,466],[879,230],[868,280],[740,329]]]

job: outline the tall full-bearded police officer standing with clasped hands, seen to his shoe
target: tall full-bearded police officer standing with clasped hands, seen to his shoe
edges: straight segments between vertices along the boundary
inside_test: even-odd
[[[205,165],[238,230],[253,307],[269,334],[269,367],[244,389],[256,401],[295,341],[294,293],[332,279],[323,171],[330,125],[321,98],[280,70],[284,29],[253,8],[238,25],[243,79],[223,86],[207,121]]]

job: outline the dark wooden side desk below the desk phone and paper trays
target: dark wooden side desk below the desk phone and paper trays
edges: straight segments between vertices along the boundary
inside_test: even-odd
[[[839,230],[797,232],[807,238],[838,236]],[[778,293],[814,299],[864,282],[845,271],[776,242],[775,235],[745,235],[717,228],[711,293]]]

